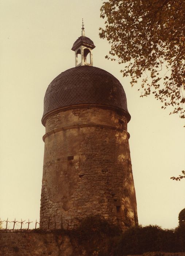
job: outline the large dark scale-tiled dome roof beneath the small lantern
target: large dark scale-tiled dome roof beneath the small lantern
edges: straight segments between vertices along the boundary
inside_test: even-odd
[[[126,95],[119,80],[101,68],[79,66],[62,72],[48,86],[44,98],[43,125],[49,113],[81,104],[121,110],[130,121]]]

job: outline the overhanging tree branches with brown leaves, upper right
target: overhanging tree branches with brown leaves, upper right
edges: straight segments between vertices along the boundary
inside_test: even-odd
[[[108,0],[100,11],[100,38],[111,44],[105,57],[118,57],[132,86],[141,81],[141,97],[153,93],[185,118],[185,0]]]

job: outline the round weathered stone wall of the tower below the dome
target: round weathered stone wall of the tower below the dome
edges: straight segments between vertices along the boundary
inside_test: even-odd
[[[110,109],[69,109],[47,119],[41,228],[61,219],[73,228],[98,214],[123,229],[137,225],[128,138],[126,117]]]

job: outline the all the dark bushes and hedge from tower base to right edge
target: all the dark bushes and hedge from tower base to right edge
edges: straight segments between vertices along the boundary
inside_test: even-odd
[[[185,252],[185,228],[162,229],[159,226],[137,226],[124,233],[100,216],[82,220],[75,230],[66,234],[77,255],[85,250],[87,256],[138,255],[146,252]],[[59,231],[57,236],[59,235]],[[159,253],[159,255],[162,255]]]

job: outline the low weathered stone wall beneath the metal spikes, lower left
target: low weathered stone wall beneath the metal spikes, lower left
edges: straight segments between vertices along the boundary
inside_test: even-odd
[[[74,249],[68,236],[33,231],[0,231],[1,256],[73,256]]]

